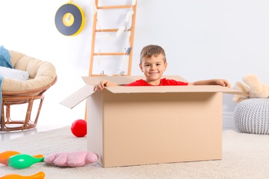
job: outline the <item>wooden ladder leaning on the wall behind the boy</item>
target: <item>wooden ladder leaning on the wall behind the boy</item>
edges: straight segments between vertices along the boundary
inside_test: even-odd
[[[93,74],[92,69],[94,68],[94,56],[124,56],[126,55],[126,52],[94,52],[95,45],[96,45],[96,34],[99,32],[114,32],[117,33],[119,29],[97,29],[98,20],[97,20],[97,13],[99,10],[111,10],[111,9],[122,9],[122,8],[132,8],[133,14],[131,19],[131,27],[126,30],[130,32],[130,52],[128,52],[128,72],[127,75],[131,75],[132,70],[132,48],[134,44],[134,36],[135,36],[135,17],[136,17],[136,11],[137,11],[137,2],[135,1],[135,4],[130,5],[123,5],[123,6],[99,6],[99,0],[95,0],[95,6],[97,8],[97,12],[94,13],[93,17],[93,23],[92,23],[92,46],[91,46],[91,53],[90,53],[90,70],[89,70],[89,76],[106,76],[106,74]],[[119,74],[112,74],[113,76],[117,76]]]

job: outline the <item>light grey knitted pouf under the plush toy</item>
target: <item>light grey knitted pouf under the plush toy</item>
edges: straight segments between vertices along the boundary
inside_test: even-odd
[[[269,98],[249,98],[237,104],[235,128],[243,133],[269,134]]]

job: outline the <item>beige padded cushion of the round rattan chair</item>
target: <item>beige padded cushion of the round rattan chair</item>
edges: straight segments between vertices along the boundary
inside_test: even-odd
[[[19,81],[12,78],[3,78],[2,92],[28,91],[45,87],[57,77],[56,69],[52,63],[41,61],[20,52],[9,50],[11,63],[14,69],[29,73],[27,81]]]

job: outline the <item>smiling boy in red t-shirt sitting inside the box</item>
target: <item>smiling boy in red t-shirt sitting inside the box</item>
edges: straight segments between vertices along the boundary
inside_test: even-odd
[[[230,83],[225,79],[210,79],[186,83],[182,81],[161,78],[166,71],[166,53],[159,45],[147,45],[141,50],[139,67],[146,76],[146,80],[138,80],[124,86],[159,86],[159,85],[221,85],[230,87]],[[104,87],[117,86],[116,84],[103,80],[94,86],[93,90],[102,91]]]

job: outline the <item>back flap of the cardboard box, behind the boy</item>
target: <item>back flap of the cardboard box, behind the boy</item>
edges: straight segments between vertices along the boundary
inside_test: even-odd
[[[145,79],[145,78],[146,78],[145,76],[82,76],[83,81],[87,85],[96,85],[97,83],[105,79],[111,81],[112,83],[116,83],[117,85],[126,85],[139,79]],[[163,78],[188,82],[181,76],[163,76]]]

